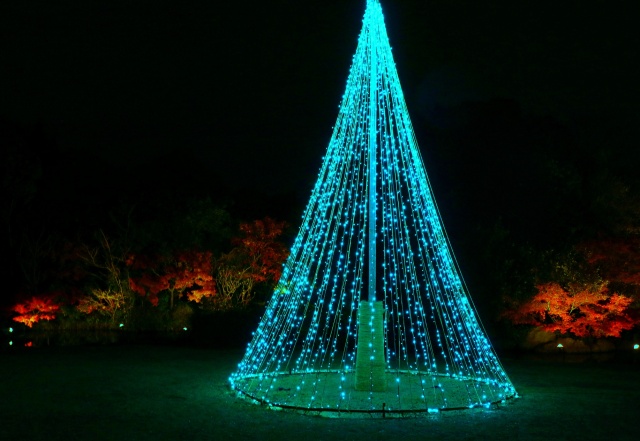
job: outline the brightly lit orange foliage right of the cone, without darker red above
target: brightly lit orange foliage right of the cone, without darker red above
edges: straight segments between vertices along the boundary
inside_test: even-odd
[[[569,292],[557,283],[545,283],[537,290],[533,299],[505,315],[515,324],[577,337],[620,337],[639,324],[629,315],[633,299],[610,294],[606,284]]]

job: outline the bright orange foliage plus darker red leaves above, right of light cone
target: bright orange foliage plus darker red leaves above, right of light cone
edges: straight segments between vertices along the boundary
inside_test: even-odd
[[[640,325],[640,243],[599,240],[577,247],[579,271],[536,285],[535,295],[504,317],[514,324],[576,337],[620,337]]]

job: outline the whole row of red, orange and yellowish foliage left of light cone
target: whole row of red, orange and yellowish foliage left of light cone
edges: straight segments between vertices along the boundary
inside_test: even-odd
[[[116,250],[100,232],[98,247],[80,245],[71,253],[74,258],[65,257],[78,267],[69,289],[15,304],[13,320],[32,327],[65,311],[68,316],[80,313],[115,324],[134,308],[158,307],[161,299],[170,310],[178,302],[211,311],[246,307],[254,301],[257,288],[269,289],[280,277],[288,255],[280,242],[284,227],[284,222],[270,218],[241,223],[231,249],[217,256],[197,249],[157,254]],[[80,290],[71,287],[92,277],[99,283]]]

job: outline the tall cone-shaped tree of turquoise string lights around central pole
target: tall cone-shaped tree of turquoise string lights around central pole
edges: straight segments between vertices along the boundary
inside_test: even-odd
[[[302,226],[232,387],[342,416],[516,396],[442,226],[378,0]]]

